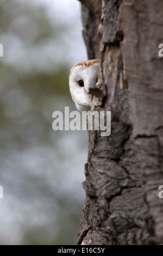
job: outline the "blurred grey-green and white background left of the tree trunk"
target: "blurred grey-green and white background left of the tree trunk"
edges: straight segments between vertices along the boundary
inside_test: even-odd
[[[77,0],[0,1],[0,245],[73,245],[87,131],[54,131],[76,110],[68,75],[86,60]]]

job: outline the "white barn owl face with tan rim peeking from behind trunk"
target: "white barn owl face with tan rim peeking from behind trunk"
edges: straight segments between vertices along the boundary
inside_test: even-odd
[[[79,62],[70,71],[69,86],[73,101],[79,111],[88,111],[92,97],[90,88],[95,88],[99,59]]]

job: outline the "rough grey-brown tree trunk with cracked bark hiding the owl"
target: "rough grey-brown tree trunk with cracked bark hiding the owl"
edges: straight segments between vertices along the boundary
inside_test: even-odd
[[[89,59],[100,58],[78,245],[163,244],[163,1],[80,0]]]

